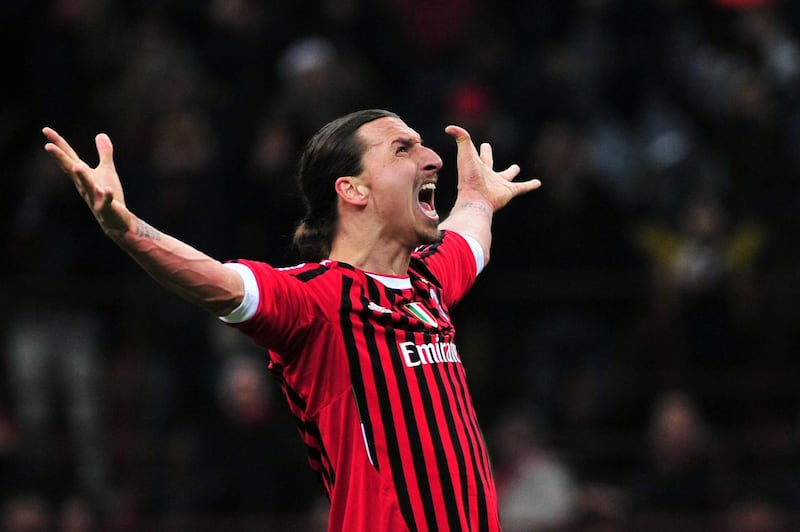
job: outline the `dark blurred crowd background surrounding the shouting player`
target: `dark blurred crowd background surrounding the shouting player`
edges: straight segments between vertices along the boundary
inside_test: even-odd
[[[507,530],[800,529],[800,3],[0,2],[3,530],[315,530],[263,353],[156,286],[45,155],[115,143],[131,209],[294,260],[305,140],[398,112],[544,186],[454,311]]]

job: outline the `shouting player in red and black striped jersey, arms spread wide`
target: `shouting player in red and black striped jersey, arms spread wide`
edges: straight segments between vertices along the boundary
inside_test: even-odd
[[[105,134],[92,169],[43,130],[114,242],[268,349],[330,498],[332,531],[500,529],[448,309],[489,259],[494,212],[540,183],[513,182],[518,166],[495,172],[488,144],[479,153],[463,128],[445,131],[459,177],[440,222],[442,161],[397,115],[358,111],[324,126],[301,158],[306,217],[295,234],[298,249],[322,260],[275,269],[222,264],[137,218]]]

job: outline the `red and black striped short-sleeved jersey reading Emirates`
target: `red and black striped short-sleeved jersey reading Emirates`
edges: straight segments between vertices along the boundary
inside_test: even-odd
[[[331,501],[329,530],[499,530],[448,312],[477,275],[467,241],[444,232],[414,252],[408,277],[238,262],[259,303],[233,326],[269,352]]]

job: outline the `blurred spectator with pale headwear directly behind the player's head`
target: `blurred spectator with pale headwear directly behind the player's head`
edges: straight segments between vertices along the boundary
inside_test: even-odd
[[[237,252],[276,264],[291,261],[291,235],[302,217],[295,164],[304,143],[328,120],[372,100],[359,59],[322,36],[291,42],[276,64],[274,97],[265,102],[244,154],[237,194]],[[234,203],[234,201],[231,201]]]

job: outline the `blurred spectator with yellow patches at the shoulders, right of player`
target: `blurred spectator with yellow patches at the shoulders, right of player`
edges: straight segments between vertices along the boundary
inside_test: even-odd
[[[743,341],[757,331],[763,228],[732,219],[713,197],[694,197],[676,229],[644,223],[636,232],[652,268],[651,348],[679,371],[730,366],[746,354]]]

